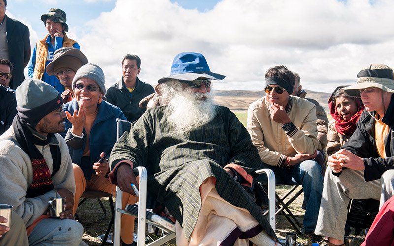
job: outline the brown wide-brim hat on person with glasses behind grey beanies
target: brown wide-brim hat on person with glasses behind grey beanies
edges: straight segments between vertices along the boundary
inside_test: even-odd
[[[68,58],[68,59],[67,59]],[[78,62],[80,60],[80,62]],[[57,67],[69,67],[74,72],[88,63],[88,58],[79,49],[72,47],[63,47],[57,49],[53,54],[53,60],[46,67],[46,73],[53,75],[55,72],[55,66]]]

